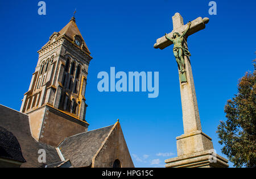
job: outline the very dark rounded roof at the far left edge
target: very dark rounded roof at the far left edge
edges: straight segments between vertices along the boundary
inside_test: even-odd
[[[13,133],[7,131],[5,128],[0,127],[0,157],[3,159],[10,159],[26,162],[24,159],[18,140]]]

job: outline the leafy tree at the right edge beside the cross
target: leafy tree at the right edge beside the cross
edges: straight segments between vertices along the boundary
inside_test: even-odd
[[[254,60],[255,62],[255,60]],[[256,65],[238,81],[238,93],[225,106],[227,120],[218,126],[222,153],[236,167],[256,167]]]

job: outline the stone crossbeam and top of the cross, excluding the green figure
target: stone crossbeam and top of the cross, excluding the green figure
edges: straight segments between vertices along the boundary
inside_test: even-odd
[[[174,32],[179,32],[179,34],[182,34],[186,29],[188,24],[183,23],[183,18],[179,13],[176,13],[174,16],[172,16],[172,22],[174,24],[174,30],[168,34],[168,37],[172,38],[172,35]],[[209,18],[197,18],[191,22],[191,27],[189,28],[186,36],[195,34],[196,32],[203,30],[205,28],[205,24],[209,22]],[[172,41],[167,40],[165,36],[162,38],[159,38],[156,40],[156,43],[154,45],[154,48],[160,48],[164,49],[172,44]]]

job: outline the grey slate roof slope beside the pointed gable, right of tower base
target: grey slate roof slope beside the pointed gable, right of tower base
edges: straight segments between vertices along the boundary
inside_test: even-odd
[[[113,127],[114,125],[70,136],[59,145],[59,149],[74,167],[88,167],[92,165],[93,156]]]

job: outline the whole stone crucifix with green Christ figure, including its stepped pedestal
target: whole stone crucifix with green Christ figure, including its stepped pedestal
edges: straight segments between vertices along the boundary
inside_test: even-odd
[[[197,106],[196,90],[188,51],[187,38],[189,35],[203,30],[209,18],[197,18],[184,25],[179,13],[172,16],[174,30],[156,40],[154,48],[164,49],[174,44],[173,52],[179,69],[181,106],[183,113],[184,134],[177,139],[177,157],[166,160],[166,167],[227,167],[228,161],[217,154],[216,163],[210,160],[213,150],[212,139],[204,134],[201,128]]]

